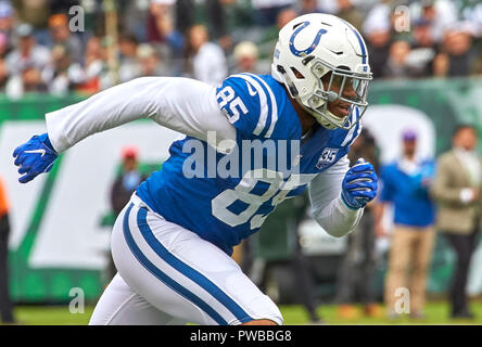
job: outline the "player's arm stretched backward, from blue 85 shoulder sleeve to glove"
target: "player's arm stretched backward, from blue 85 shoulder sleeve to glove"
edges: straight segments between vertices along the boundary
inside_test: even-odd
[[[141,77],[48,113],[47,133],[20,145],[13,156],[24,175],[18,181],[26,183],[48,172],[56,156],[77,142],[140,118],[151,118],[226,153],[236,145],[237,132],[270,137],[276,115],[272,92],[255,75],[231,76],[218,89],[188,78]],[[210,131],[216,133],[211,137],[216,143],[211,143]]]

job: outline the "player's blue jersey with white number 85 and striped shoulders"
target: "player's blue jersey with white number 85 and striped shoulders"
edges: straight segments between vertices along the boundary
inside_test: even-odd
[[[259,230],[277,204],[303,193],[310,179],[346,155],[362,126],[357,123],[350,130],[318,127],[302,142],[301,123],[290,98],[268,75],[230,76],[216,98],[237,129],[237,150],[216,152],[191,137],[176,141],[163,168],[137,194],[166,220],[230,255],[232,246]],[[358,115],[354,108],[352,120]],[[255,147],[262,149],[257,151],[261,157],[254,154]],[[193,160],[200,154],[205,159]]]

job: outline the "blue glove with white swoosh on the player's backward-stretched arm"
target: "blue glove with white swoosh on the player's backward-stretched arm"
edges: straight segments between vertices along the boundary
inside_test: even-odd
[[[18,174],[25,174],[18,182],[27,183],[38,175],[49,172],[58,153],[50,143],[49,136],[42,133],[17,146],[13,152],[13,157],[14,164],[20,167]]]

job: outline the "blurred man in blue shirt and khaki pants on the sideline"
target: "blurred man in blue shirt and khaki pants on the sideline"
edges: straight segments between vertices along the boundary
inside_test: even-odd
[[[376,224],[378,235],[386,234],[382,223],[386,205],[392,204],[394,209],[394,231],[385,278],[385,304],[390,318],[403,313],[395,310],[398,288],[409,290],[410,317],[424,317],[427,277],[435,235],[435,207],[429,196],[429,187],[435,167],[431,159],[417,158],[416,149],[416,132],[405,130],[402,158],[381,170],[382,190]]]

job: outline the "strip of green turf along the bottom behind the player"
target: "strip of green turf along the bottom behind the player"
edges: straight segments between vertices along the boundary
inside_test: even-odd
[[[281,306],[286,324],[308,324],[308,317],[302,306]],[[354,320],[340,319],[333,305],[320,306],[318,312],[327,324],[482,324],[482,301],[472,301],[471,309],[477,314],[474,321],[448,319],[448,304],[431,301],[427,305],[427,319],[420,321],[404,317],[398,320],[386,318],[359,317]],[[83,325],[89,322],[93,306],[86,306],[84,313],[71,313],[68,306],[18,306],[16,319],[27,325]]]

